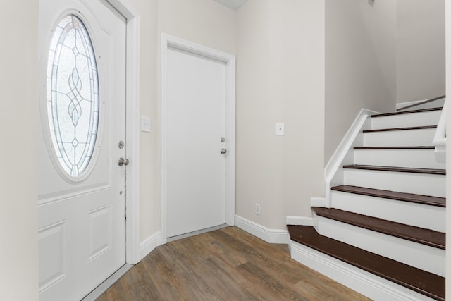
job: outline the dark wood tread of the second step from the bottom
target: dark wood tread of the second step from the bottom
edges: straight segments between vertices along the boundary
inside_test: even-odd
[[[311,207],[311,209],[318,216],[445,250],[445,233],[442,232],[335,208]]]

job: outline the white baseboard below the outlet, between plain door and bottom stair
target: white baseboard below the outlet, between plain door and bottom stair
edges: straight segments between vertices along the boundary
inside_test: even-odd
[[[241,216],[235,215],[235,226],[269,243],[290,242],[288,230],[269,229]]]

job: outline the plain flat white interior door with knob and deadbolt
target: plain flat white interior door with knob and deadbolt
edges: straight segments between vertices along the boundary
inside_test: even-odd
[[[233,135],[227,63],[199,51],[164,50],[163,198],[171,238],[226,223]]]

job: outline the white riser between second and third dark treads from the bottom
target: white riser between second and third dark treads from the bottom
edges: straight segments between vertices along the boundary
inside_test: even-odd
[[[330,199],[333,208],[433,231],[446,231],[446,211],[444,207],[402,202],[383,197],[356,195],[334,190],[330,194]]]

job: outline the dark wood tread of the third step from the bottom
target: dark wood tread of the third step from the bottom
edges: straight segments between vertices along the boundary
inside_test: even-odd
[[[354,193],[357,195],[369,195],[371,197],[383,197],[385,199],[396,199],[403,202],[412,202],[416,204],[426,204],[436,207],[446,207],[445,197],[433,197],[430,195],[416,195],[413,193],[404,193],[390,190],[380,190],[374,188],[365,188],[351,185],[340,185],[330,188],[331,190]]]

